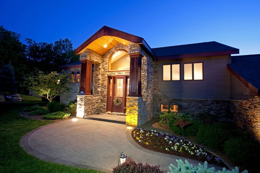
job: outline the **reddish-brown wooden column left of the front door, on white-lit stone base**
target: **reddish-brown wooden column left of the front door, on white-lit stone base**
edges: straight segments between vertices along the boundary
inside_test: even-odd
[[[81,75],[79,84],[79,94],[91,95],[91,74],[93,61],[88,59],[80,60],[81,62]]]

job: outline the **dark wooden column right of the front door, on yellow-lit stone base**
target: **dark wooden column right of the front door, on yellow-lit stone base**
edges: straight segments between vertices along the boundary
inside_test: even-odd
[[[142,97],[141,65],[142,55],[140,53],[129,54],[130,76],[128,97]]]

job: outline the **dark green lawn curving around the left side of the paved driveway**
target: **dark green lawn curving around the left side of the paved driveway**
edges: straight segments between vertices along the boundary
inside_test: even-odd
[[[19,111],[33,104],[0,104],[0,172],[86,172],[97,170],[70,167],[40,160],[27,154],[20,146],[20,139],[29,131],[53,121],[38,121],[19,116]]]

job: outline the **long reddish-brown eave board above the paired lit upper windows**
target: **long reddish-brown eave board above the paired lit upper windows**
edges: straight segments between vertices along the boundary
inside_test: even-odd
[[[218,52],[203,52],[203,53],[192,53],[192,54],[180,54],[180,55],[170,55],[164,57],[157,57],[157,60],[170,60],[170,59],[182,59],[182,58],[196,58],[196,57],[213,57],[213,56],[223,56],[230,54],[239,54],[238,50],[226,50]]]

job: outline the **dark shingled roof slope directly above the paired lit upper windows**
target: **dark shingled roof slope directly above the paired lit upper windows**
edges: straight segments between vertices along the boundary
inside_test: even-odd
[[[220,51],[239,51],[237,48],[233,48],[218,42],[204,42],[195,44],[185,44],[179,46],[168,46],[161,48],[152,48],[157,57],[182,55],[182,54],[198,54],[205,52],[220,52]]]

